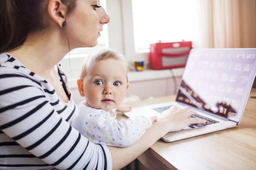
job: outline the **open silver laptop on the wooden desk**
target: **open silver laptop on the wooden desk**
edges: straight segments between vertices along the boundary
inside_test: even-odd
[[[176,101],[132,108],[127,117],[158,116],[172,105],[191,107],[204,124],[190,124],[162,139],[172,142],[237,126],[256,76],[256,49],[192,49]]]

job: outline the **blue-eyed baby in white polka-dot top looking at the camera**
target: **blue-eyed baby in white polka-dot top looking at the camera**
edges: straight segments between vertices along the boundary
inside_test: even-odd
[[[112,49],[93,53],[83,61],[77,81],[85,101],[72,126],[91,142],[127,147],[135,143],[150,128],[157,117],[134,117],[116,120],[116,108],[129,88],[127,62]]]

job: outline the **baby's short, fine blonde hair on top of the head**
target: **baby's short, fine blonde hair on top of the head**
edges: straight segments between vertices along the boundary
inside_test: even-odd
[[[83,63],[82,63],[82,72],[80,74],[81,80],[86,76],[87,72],[95,63],[98,61],[102,61],[105,59],[117,59],[119,61],[123,61],[126,65],[126,77],[127,77],[127,82],[128,82],[128,64],[124,58],[124,55],[118,53],[116,50],[113,49],[102,49],[102,50],[97,50],[91,54],[89,54],[88,57],[84,58]]]

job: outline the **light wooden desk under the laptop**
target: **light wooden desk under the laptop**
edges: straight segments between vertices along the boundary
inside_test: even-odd
[[[256,169],[256,92],[234,128],[182,139],[158,140],[138,157],[148,170]],[[133,107],[175,100],[175,96],[131,103]],[[119,117],[120,118],[120,117]]]

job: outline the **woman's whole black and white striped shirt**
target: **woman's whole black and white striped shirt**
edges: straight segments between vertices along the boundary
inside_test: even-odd
[[[112,169],[108,147],[91,143],[75,128],[77,112],[52,85],[8,53],[0,54],[0,169]]]

